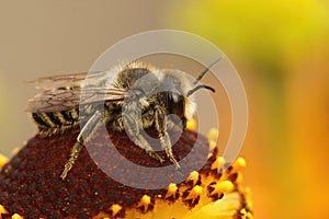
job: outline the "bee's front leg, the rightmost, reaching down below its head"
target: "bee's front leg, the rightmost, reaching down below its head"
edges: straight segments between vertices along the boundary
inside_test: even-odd
[[[166,151],[166,154],[170,159],[170,161],[175,164],[175,168],[180,169],[181,168],[180,164],[178,163],[178,161],[174,159],[172,154],[171,141],[167,132],[164,110],[161,108],[161,106],[156,106],[155,117],[156,117],[156,129],[159,132],[161,147]]]

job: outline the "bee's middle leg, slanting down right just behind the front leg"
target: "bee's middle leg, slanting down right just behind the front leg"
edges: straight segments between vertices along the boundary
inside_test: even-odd
[[[139,148],[144,149],[147,152],[147,154],[151,158],[163,162],[163,159],[154,151],[152,147],[148,143],[148,141],[139,134],[140,126],[138,125],[137,119],[128,115],[127,113],[124,113],[123,120],[124,124],[126,124],[125,128],[127,134],[133,137],[134,143]]]

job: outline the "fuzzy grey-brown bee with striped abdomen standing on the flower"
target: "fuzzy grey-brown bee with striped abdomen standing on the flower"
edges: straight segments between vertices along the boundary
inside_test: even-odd
[[[80,125],[81,129],[60,174],[63,180],[72,169],[83,143],[98,128],[106,124],[113,131],[126,131],[137,147],[159,162],[150,143],[140,135],[154,127],[168,159],[179,166],[172,154],[167,132],[167,119],[177,115],[183,128],[195,113],[192,94],[200,89],[215,91],[197,82],[220,60],[203,70],[195,81],[188,80],[175,69],[157,69],[139,61],[94,73],[72,73],[39,78],[36,89],[43,90],[29,100],[27,112],[42,137],[60,135]],[[173,122],[174,123],[174,122]]]

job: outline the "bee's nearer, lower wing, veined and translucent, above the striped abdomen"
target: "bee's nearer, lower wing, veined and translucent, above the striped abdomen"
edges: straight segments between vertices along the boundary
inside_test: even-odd
[[[116,88],[71,88],[47,90],[29,100],[27,112],[68,111],[79,105],[118,101],[127,91]]]

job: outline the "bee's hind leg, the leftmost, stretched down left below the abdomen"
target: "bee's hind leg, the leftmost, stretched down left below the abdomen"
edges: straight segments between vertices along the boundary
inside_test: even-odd
[[[82,149],[83,142],[87,142],[92,134],[98,129],[98,127],[102,124],[103,116],[97,111],[93,116],[87,122],[77,137],[77,142],[75,143],[69,160],[65,163],[64,171],[60,174],[61,180],[65,180],[67,173],[72,169],[76,160],[78,159],[79,152]]]

